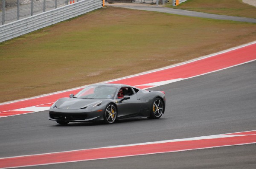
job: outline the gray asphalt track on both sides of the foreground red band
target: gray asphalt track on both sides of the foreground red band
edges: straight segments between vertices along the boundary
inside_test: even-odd
[[[256,130],[256,61],[154,87],[166,113],[116,124],[57,125],[48,112],[0,119],[0,158]],[[24,168],[256,168],[256,144]]]

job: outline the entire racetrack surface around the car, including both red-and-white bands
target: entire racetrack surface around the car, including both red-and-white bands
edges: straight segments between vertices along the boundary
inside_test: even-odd
[[[54,101],[83,87],[1,104],[0,168],[255,168],[255,61],[252,42],[107,82],[164,90],[157,120],[47,119]]]

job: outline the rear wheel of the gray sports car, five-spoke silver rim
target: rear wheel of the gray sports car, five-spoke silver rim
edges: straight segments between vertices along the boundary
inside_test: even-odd
[[[148,118],[150,119],[158,119],[163,115],[164,104],[160,98],[154,99],[151,105],[151,112]]]

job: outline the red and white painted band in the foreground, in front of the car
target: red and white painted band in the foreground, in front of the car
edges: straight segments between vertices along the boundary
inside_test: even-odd
[[[194,138],[155,141],[140,144],[107,146],[94,149],[79,149],[65,152],[23,155],[0,158],[0,168],[39,166],[77,161],[90,161],[108,158],[131,157],[167,152],[180,152],[194,149],[208,149],[256,143],[256,130]]]

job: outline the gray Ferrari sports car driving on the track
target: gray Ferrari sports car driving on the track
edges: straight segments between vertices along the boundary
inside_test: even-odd
[[[121,84],[97,84],[85,87],[70,98],[58,99],[49,109],[49,120],[69,122],[104,121],[134,116],[160,118],[165,110],[165,93]]]

